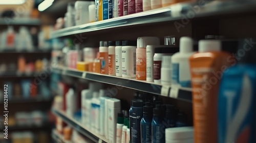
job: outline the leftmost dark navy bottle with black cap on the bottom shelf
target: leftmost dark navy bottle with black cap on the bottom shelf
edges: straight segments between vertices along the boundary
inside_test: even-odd
[[[140,133],[140,122],[143,116],[143,101],[142,100],[133,100],[132,103],[132,114],[129,114],[130,118],[130,127],[132,131],[131,142],[140,142],[141,133]]]

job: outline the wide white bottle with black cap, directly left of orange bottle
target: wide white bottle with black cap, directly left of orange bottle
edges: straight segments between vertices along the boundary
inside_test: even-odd
[[[122,41],[122,77],[136,77],[136,41]]]

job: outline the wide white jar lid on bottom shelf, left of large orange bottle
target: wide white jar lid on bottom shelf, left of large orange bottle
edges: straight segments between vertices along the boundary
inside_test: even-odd
[[[194,137],[193,127],[179,127],[179,128],[165,129],[165,139],[168,139],[168,140],[190,139],[193,137]]]

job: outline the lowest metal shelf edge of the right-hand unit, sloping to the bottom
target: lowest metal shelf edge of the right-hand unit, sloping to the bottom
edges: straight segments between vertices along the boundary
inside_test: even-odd
[[[89,129],[84,127],[81,123],[79,123],[78,121],[74,120],[73,117],[67,116],[65,112],[60,111],[60,110],[56,110],[56,109],[52,109],[52,112],[56,116],[62,118],[62,120],[65,123],[67,123],[69,126],[71,126],[73,129],[75,129],[76,131],[78,131],[82,135],[90,138],[94,142],[108,142],[108,140],[104,136],[98,135],[98,134],[90,131]]]

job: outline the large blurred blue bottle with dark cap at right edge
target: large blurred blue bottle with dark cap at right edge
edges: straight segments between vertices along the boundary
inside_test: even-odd
[[[241,41],[238,64],[224,71],[218,97],[219,143],[256,142],[255,41],[252,38]]]

